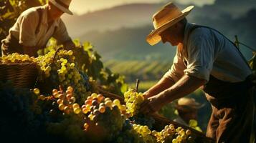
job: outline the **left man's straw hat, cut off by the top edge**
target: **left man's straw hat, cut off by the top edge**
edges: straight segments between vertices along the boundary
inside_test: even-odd
[[[54,6],[56,6],[61,11],[73,15],[72,11],[69,9],[71,0],[49,0],[49,2],[54,4]]]

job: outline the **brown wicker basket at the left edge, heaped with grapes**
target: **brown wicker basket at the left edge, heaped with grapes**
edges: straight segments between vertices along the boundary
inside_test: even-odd
[[[34,63],[0,64],[0,81],[11,81],[17,88],[34,87],[37,74],[37,66]]]

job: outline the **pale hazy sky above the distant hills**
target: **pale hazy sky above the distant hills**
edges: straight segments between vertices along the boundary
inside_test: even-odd
[[[177,0],[181,4],[195,4],[197,6],[203,6],[204,4],[213,4],[215,0]],[[85,14],[88,11],[97,11],[100,9],[107,9],[113,6],[122,4],[133,3],[159,3],[166,2],[168,0],[73,0],[70,5],[71,11],[75,14]]]

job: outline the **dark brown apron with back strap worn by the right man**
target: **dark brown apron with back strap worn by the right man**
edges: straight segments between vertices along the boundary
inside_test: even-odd
[[[189,34],[199,27],[209,28],[194,26],[190,29]],[[232,42],[232,44],[234,43]],[[237,48],[235,44],[234,47]],[[247,64],[245,58],[243,56],[242,58]],[[207,100],[212,104],[207,137],[216,139],[217,142],[250,142],[254,116],[252,86],[250,77],[247,77],[244,82],[231,83],[210,75],[209,82],[203,88],[207,93]]]

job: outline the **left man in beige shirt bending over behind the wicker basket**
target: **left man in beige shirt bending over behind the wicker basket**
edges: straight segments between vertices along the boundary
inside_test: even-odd
[[[32,7],[24,11],[9,30],[9,35],[2,40],[3,55],[19,53],[37,56],[39,49],[44,49],[47,41],[54,37],[58,44],[66,49],[75,46],[67,34],[67,29],[60,16],[71,14],[71,0],[49,0],[44,6]]]

